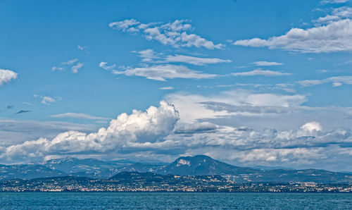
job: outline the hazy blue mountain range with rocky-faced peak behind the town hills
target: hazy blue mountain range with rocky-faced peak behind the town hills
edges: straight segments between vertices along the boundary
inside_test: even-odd
[[[122,172],[155,173],[160,175],[220,175],[236,183],[250,182],[315,182],[352,183],[352,174],[318,169],[249,168],[232,166],[197,155],[180,157],[167,163],[135,163],[130,161],[101,161],[98,159],[52,159],[42,163],[0,165],[0,180],[49,178],[70,175],[74,177],[114,178]]]

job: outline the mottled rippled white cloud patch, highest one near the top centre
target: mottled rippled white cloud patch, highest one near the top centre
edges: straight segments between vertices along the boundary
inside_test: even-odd
[[[195,34],[188,34],[191,25],[187,20],[175,20],[172,23],[140,23],[137,20],[122,20],[109,24],[110,27],[122,32],[141,32],[148,40],[156,40],[171,47],[205,47],[206,49],[221,49],[223,44],[214,44]]]

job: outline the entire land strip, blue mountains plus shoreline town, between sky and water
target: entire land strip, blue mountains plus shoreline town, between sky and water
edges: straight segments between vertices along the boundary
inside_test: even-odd
[[[52,159],[0,165],[0,192],[352,192],[352,174],[232,166],[209,156],[172,163]]]

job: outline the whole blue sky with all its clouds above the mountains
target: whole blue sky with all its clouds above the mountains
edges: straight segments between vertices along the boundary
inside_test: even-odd
[[[351,0],[0,0],[0,163],[352,171],[351,51]]]

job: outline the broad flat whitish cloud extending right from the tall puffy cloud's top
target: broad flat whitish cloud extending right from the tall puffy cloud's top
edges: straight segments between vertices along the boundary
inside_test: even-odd
[[[294,108],[296,106],[301,106],[301,104],[307,101],[305,96],[299,94],[256,94],[243,89],[234,89],[210,96],[178,92],[168,94],[165,99],[170,102],[170,104],[175,105],[176,109],[180,112],[180,121],[184,122],[193,122],[204,118],[221,118],[239,114],[247,115],[248,113],[251,113],[252,115],[253,113],[276,113],[285,107]],[[209,104],[212,102],[226,106],[237,106],[236,108],[240,109],[237,111],[229,111],[228,109],[210,109]],[[213,108],[214,106],[211,107]],[[268,111],[269,109],[272,111]]]

